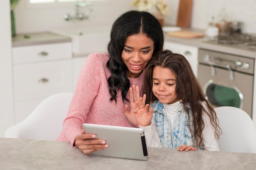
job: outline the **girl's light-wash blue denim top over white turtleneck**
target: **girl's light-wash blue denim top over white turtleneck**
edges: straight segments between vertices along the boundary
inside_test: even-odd
[[[178,148],[180,145],[187,144],[188,146],[195,146],[195,137],[191,139],[191,132],[188,127],[188,114],[191,115],[190,107],[189,113],[184,109],[178,110],[177,116],[175,118],[175,124],[173,129],[173,139],[171,139],[171,122],[166,116],[166,111],[164,105],[159,102],[159,100],[150,104],[153,107],[153,120],[157,128],[157,133],[164,148]],[[190,116],[191,129],[193,129],[192,116]],[[199,148],[198,148],[199,149]]]

